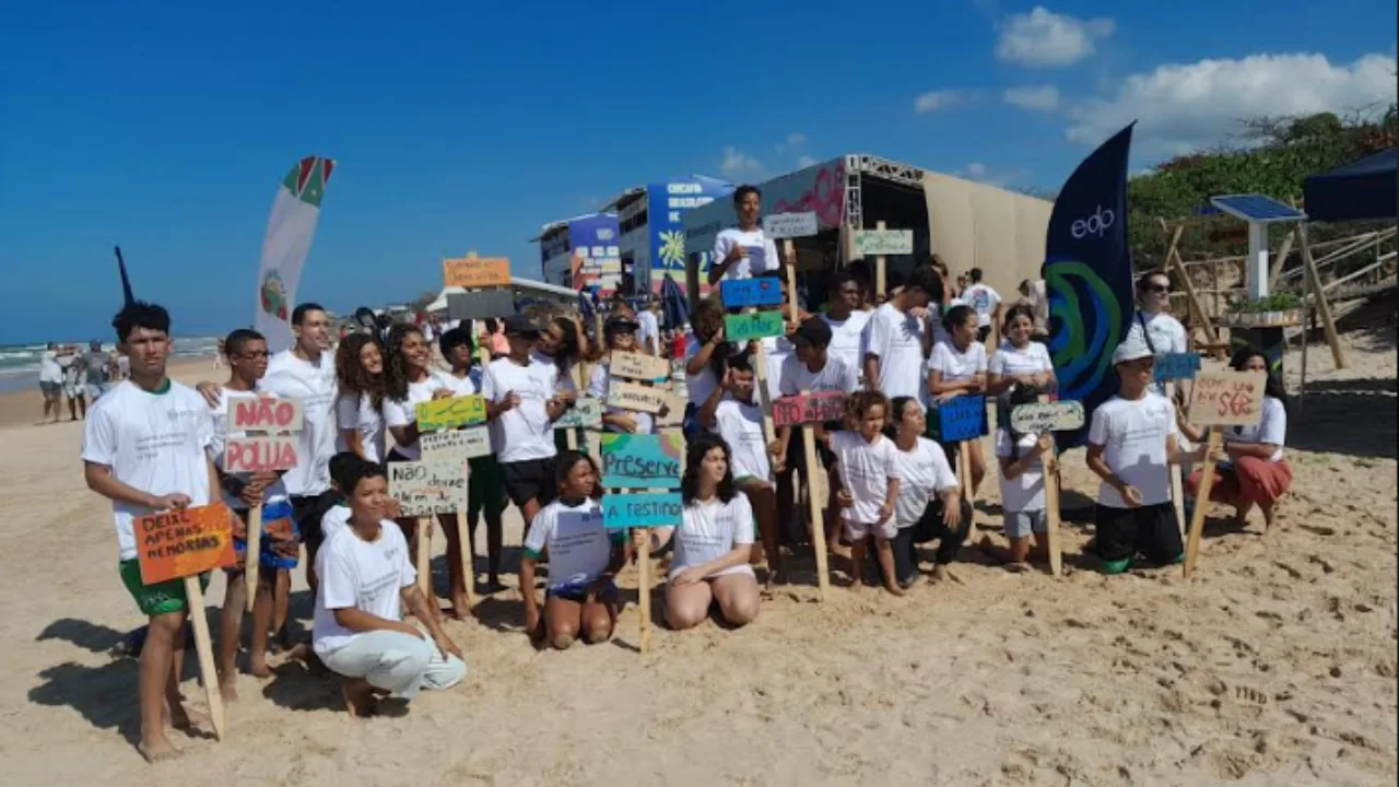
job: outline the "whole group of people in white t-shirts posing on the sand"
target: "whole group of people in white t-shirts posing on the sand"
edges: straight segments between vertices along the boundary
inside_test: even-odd
[[[760,199],[753,186],[734,192],[739,225],[719,234],[715,281],[781,274],[790,263],[758,228]],[[681,358],[688,394],[683,518],[673,528],[630,534],[606,527],[597,459],[569,450],[554,427],[582,395],[607,402],[613,351],[662,354],[659,342],[639,340],[646,326],[630,309],[614,309],[599,336],[576,315],[543,321],[516,314],[498,322],[504,346],[490,340],[490,330],[478,339],[476,326],[460,323],[441,325],[435,342],[414,325],[382,333],[365,326],[332,347],[329,315],[308,302],[292,311],[292,347],[270,354],[259,333],[234,330],[224,342],[228,379],[192,389],[165,375],[169,315],[157,305],[129,304],[113,326],[130,358],[130,379],[92,409],[83,459],[88,486],[112,500],[119,574],[150,618],[140,655],[141,751],[151,759],[169,756],[164,720],[190,723],[178,690],[190,612],[183,585],[143,584],[136,559],[133,522],[154,511],[220,499],[232,511],[239,563],[227,570],[218,648],[225,697],[236,696],[249,592],[243,570],[257,560],[248,669],[271,674],[266,655],[276,636],[280,647],[339,674],[355,714],[372,711],[386,695],[411,697],[463,679],[462,650],[442,618],[470,612],[466,583],[477,577],[463,571],[462,550],[474,557],[483,517],[483,590],[504,588],[506,504],[525,521],[522,623],[532,639],[554,648],[611,636],[621,605],[616,576],[644,542],[669,562],[663,615],[670,627],[693,627],[712,613],[730,626],[754,620],[760,577],[765,584],[786,581],[786,557],[810,535],[796,492],[823,480],[830,490],[817,501],[828,524],[824,535],[831,552],[848,560],[856,590],[869,571],[887,592],[902,595],[922,573],[919,545],[935,542],[926,556],[930,581],[946,580],[971,534],[972,499],[988,472],[981,440],[963,447],[940,434],[939,410],[958,396],[983,395],[996,413],[990,447],[1007,545],[988,536],[981,549],[1016,571],[1044,560],[1044,458],[1053,438],[1017,433],[1006,413],[1056,391],[1049,353],[1037,340],[1045,318],[1034,302],[1004,307],[993,291],[979,295],[979,272],[971,272],[961,293],[970,302],[953,302],[947,280],[946,266],[933,259],[876,304],[870,283],[848,269],[835,276],[824,312],[783,301],[785,336],[746,343],[726,340],[720,297],[701,298]],[[783,276],[779,281],[786,287]],[[1044,302],[1034,287],[1027,283]],[[1226,433],[1227,459],[1189,448],[1202,436],[1157,391],[1151,371],[1158,353],[1185,349],[1185,330],[1168,315],[1168,287],[1160,273],[1139,280],[1140,311],[1112,356],[1119,392],[1091,415],[1087,465],[1101,479],[1093,550],[1109,574],[1143,560],[1161,566],[1181,559],[1171,464],[1203,462],[1202,472],[1220,473],[1212,499],[1235,504],[1240,520],[1258,506],[1272,524],[1273,506],[1290,482],[1283,458],[1286,396],[1274,382],[1263,422]],[[989,353],[988,328],[997,335]],[[1233,360],[1241,370],[1260,364],[1266,368],[1266,358],[1255,350]],[[760,379],[762,370],[767,379]],[[816,424],[811,445],[803,429],[768,431],[772,398],[831,391],[845,395],[842,417]],[[466,528],[456,515],[436,517],[449,552],[450,606],[443,612],[418,590],[414,555],[425,539],[418,520],[402,517],[390,497],[386,465],[422,457],[416,405],[476,394],[485,402],[491,454],[470,459]],[[229,431],[222,412],[229,399],[249,396],[302,403],[295,468],[224,472],[224,445],[242,436]],[[655,415],[607,406],[602,429],[646,434],[656,423]],[[964,479],[956,472],[960,455],[967,458]],[[814,466],[809,457],[817,458]],[[256,556],[245,548],[253,507],[260,507],[263,522]],[[302,545],[315,592],[309,647],[288,641],[287,633],[290,573]]]

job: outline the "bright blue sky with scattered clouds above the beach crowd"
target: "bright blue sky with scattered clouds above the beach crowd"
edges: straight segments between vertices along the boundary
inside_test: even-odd
[[[7,13],[0,343],[106,339],[113,244],[176,333],[250,323],[306,154],[339,168],[299,294],[347,312],[467,249],[537,277],[540,224],[670,175],[865,151],[1053,189],[1133,116],[1143,168],[1241,116],[1393,95],[1374,0],[225,6]]]

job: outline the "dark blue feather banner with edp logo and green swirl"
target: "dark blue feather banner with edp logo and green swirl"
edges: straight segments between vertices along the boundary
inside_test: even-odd
[[[1132,255],[1128,248],[1128,153],[1132,126],[1079,164],[1049,217],[1045,288],[1049,354],[1059,398],[1088,413],[1116,392],[1112,351],[1132,321]],[[1081,445],[1087,429],[1060,433],[1060,450]]]

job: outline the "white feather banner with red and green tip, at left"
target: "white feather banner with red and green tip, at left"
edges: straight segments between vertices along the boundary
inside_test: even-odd
[[[301,267],[311,253],[311,237],[320,218],[320,200],[326,195],[336,162],[308,155],[292,165],[277,189],[263,237],[262,263],[257,267],[257,309],[253,326],[267,337],[273,353],[291,347],[291,309],[297,304]]]

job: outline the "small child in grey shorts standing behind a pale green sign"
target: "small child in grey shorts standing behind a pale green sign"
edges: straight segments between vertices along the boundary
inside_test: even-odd
[[[1007,412],[1039,401],[1039,388],[1018,384],[1010,392]],[[1004,563],[1009,571],[1030,569],[1030,538],[1035,541],[1035,560],[1049,559],[1045,534],[1049,511],[1045,504],[1045,468],[1042,457],[1053,448],[1053,436],[1024,434],[1010,429],[1009,420],[996,430],[996,458],[1000,461],[1000,508],[1010,550],[995,546],[990,536],[981,539],[983,552]]]

